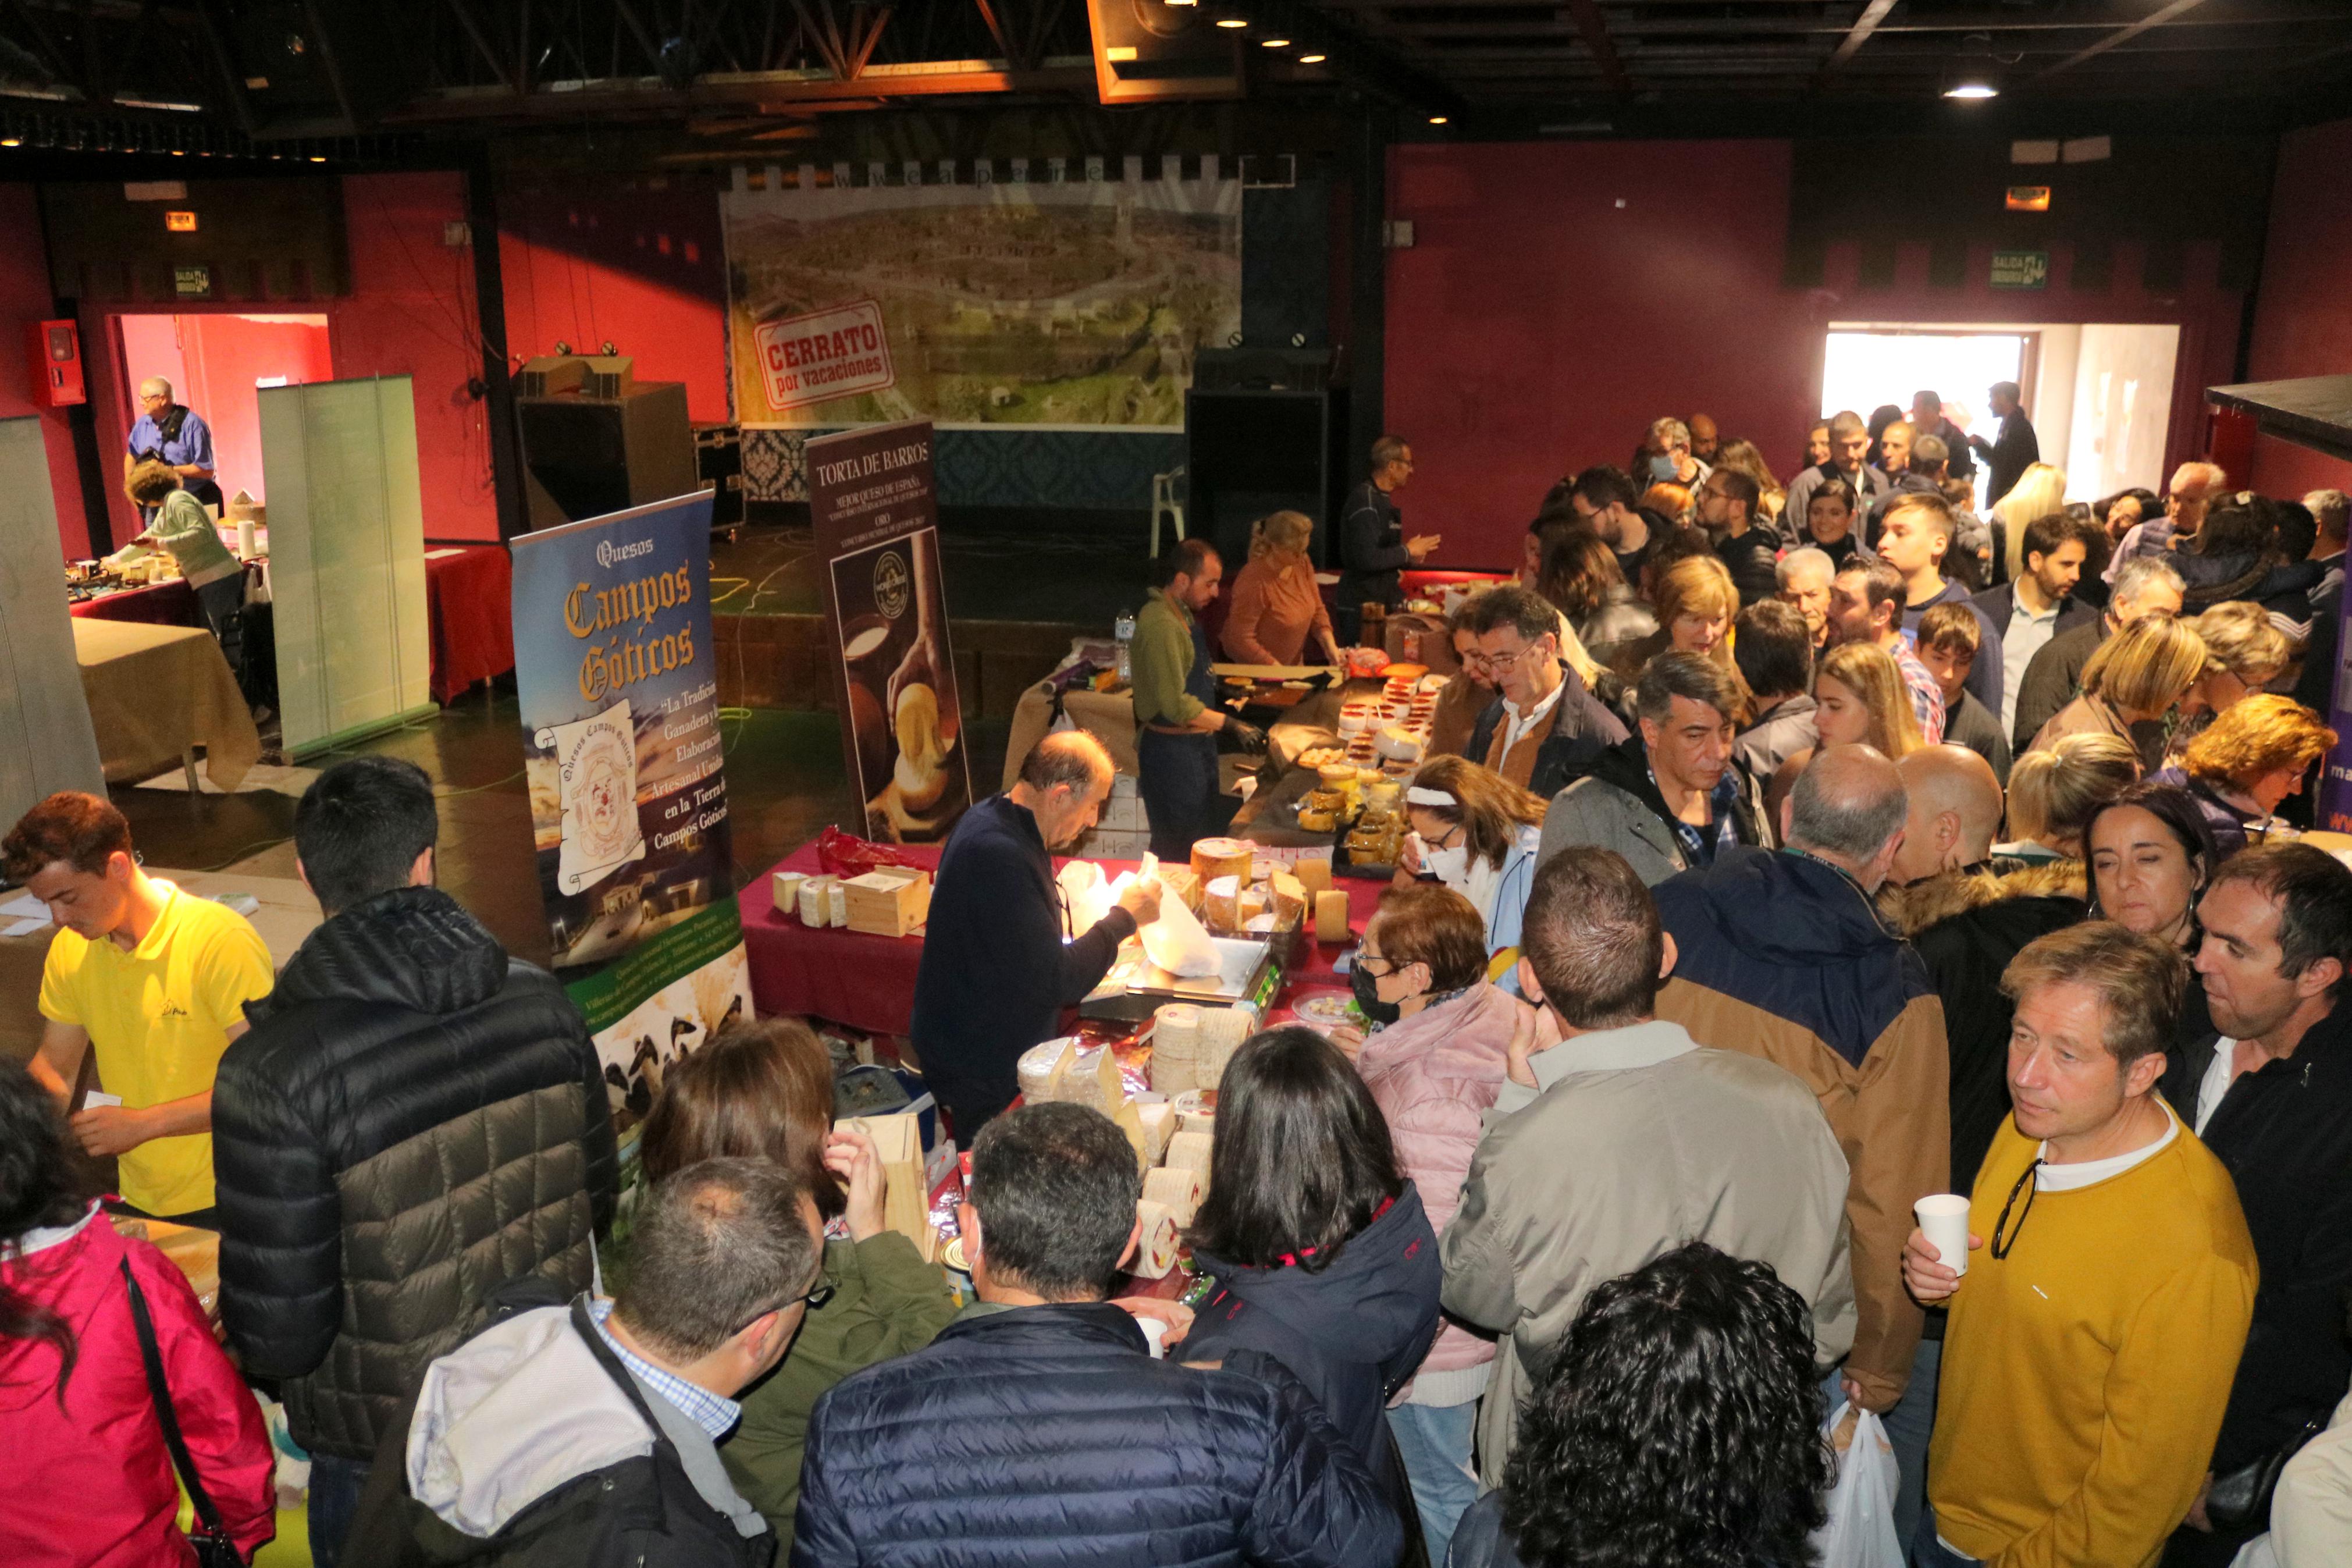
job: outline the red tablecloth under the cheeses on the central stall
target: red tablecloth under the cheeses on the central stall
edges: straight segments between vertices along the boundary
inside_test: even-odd
[[[908,860],[936,867],[938,849],[901,849]],[[1056,858],[1054,870],[1065,860]],[[1103,875],[1134,870],[1134,860],[1103,860]],[[811,931],[800,919],[776,912],[774,872],[816,875],[816,844],[802,844],[781,863],[760,872],[739,896],[743,910],[743,950],[750,959],[750,999],[760,1013],[800,1013],[828,1018],[868,1034],[906,1034],[915,1013],[915,971],[922,964],[922,936],[866,936],[830,926]],[[1388,882],[1341,877],[1334,886],[1348,893],[1348,926],[1357,933],[1371,919]],[[1308,943],[1305,959],[1284,976],[1284,992],[1345,987],[1331,964],[1345,952],[1338,943]]]

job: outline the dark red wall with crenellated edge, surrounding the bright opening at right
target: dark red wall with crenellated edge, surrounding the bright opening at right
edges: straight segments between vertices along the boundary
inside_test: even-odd
[[[1818,289],[1780,284],[1785,141],[1404,146],[1390,216],[1414,244],[1388,256],[1388,428],[1414,442],[1416,529],[1439,562],[1501,567],[1543,491],[1588,463],[1623,463],[1661,414],[1712,414],[1788,477],[1818,411],[1830,322],[2176,322],[2180,374],[2169,463],[2204,447],[2201,388],[2227,381],[2241,296],[2192,247],[2187,282],[2140,287],[2140,249],[2114,247],[2114,287],[2074,294],[2067,247],[2037,294],[1931,289],[1926,244],[1896,284],[1863,292],[1858,247],[1832,244]],[[1889,393],[1905,400],[1910,388]]]

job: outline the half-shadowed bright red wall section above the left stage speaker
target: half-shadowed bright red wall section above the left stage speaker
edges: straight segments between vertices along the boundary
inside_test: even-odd
[[[637,381],[684,381],[687,418],[727,418],[727,259],[710,183],[499,190],[499,266],[513,353],[609,341]]]

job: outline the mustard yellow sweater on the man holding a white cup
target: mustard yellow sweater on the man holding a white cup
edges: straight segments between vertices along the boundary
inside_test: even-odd
[[[2122,1175],[2034,1194],[1997,1260],[1992,1225],[2037,1147],[2002,1121],[1976,1178],[1985,1246],[1943,1340],[1936,1533],[2002,1568],[2147,1566],[2213,1458],[2253,1241],[2230,1173],[2180,1126]]]

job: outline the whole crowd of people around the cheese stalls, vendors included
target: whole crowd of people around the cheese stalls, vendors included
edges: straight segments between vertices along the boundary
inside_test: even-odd
[[[1362,1025],[1223,1072],[1190,1307],[1127,1272],[1129,1133],[1014,1105],[1162,912],[1063,919],[1091,736],[938,870],[913,1046],[969,1147],[964,1300],[790,1018],[663,1074],[616,1234],[588,1030],[435,889],[414,766],[303,797],[325,922],[275,976],[113,806],[42,802],[0,842],[61,926],[0,1067],[0,1408],[40,1455],[0,1556],[186,1561],[183,1488],[249,1554],[254,1385],[325,1568],[1795,1568],[1839,1408],[1922,1568],[2352,1561],[2352,870],[2279,816],[2336,743],[2345,498],[2190,463],[2070,505],[1994,411],[1839,414],[1788,487],[1661,418],[1639,489],[1541,501],[1451,621]],[[1411,456],[1374,458],[1376,604],[1435,538],[1383,543]],[[1228,637],[1336,651],[1296,522],[1261,538]],[[1185,543],[1136,637],[1176,846],[1240,724]],[[1962,1251],[1915,1220],[1947,1192]],[[221,1234],[219,1338],[108,1211]]]

